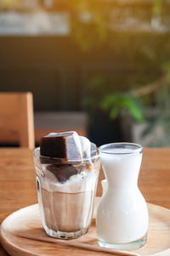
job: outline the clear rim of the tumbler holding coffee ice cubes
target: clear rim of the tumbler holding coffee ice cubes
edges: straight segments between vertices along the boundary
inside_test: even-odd
[[[37,151],[40,152],[40,147],[38,146],[37,148],[35,148],[33,150],[33,155],[36,156]],[[96,151],[92,151],[92,152],[96,152],[97,154],[95,156],[90,156],[90,157],[82,157],[82,158],[59,158],[59,157],[53,157],[53,156],[41,156],[40,158],[44,161],[48,162],[61,162],[61,163],[71,163],[71,162],[86,162],[86,161],[91,161],[91,160],[95,160],[97,158],[99,158],[99,148],[97,147]]]

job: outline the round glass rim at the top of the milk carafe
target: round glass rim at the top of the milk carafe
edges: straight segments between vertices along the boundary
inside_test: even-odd
[[[117,146],[117,147],[116,147]],[[105,151],[105,149],[108,149],[109,147],[112,149],[116,149],[116,148],[126,148],[123,146],[129,146],[129,152],[108,152]],[[99,153],[105,153],[105,154],[109,154],[109,155],[133,155],[135,153],[142,153],[143,152],[143,146],[139,145],[137,143],[130,143],[130,142],[116,142],[116,143],[109,143],[109,144],[105,144],[105,145],[100,145],[99,146]]]

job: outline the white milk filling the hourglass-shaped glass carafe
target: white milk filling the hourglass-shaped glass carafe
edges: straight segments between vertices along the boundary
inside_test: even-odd
[[[108,187],[97,211],[98,241],[124,244],[142,240],[148,230],[148,209],[137,185],[142,152],[105,149],[100,158]]]

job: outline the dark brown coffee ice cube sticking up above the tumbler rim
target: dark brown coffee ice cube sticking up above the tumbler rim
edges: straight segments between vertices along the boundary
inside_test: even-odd
[[[76,132],[52,133],[42,137],[40,155],[66,159],[82,159],[82,145]]]

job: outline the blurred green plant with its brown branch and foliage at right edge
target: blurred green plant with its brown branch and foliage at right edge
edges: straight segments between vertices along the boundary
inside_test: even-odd
[[[88,84],[90,94],[84,101],[90,111],[105,111],[111,119],[124,117],[147,122],[142,138],[152,135],[149,146],[170,145],[170,62],[162,67],[160,79],[137,88],[116,92],[113,82],[95,76]],[[122,115],[123,113],[123,115]]]

